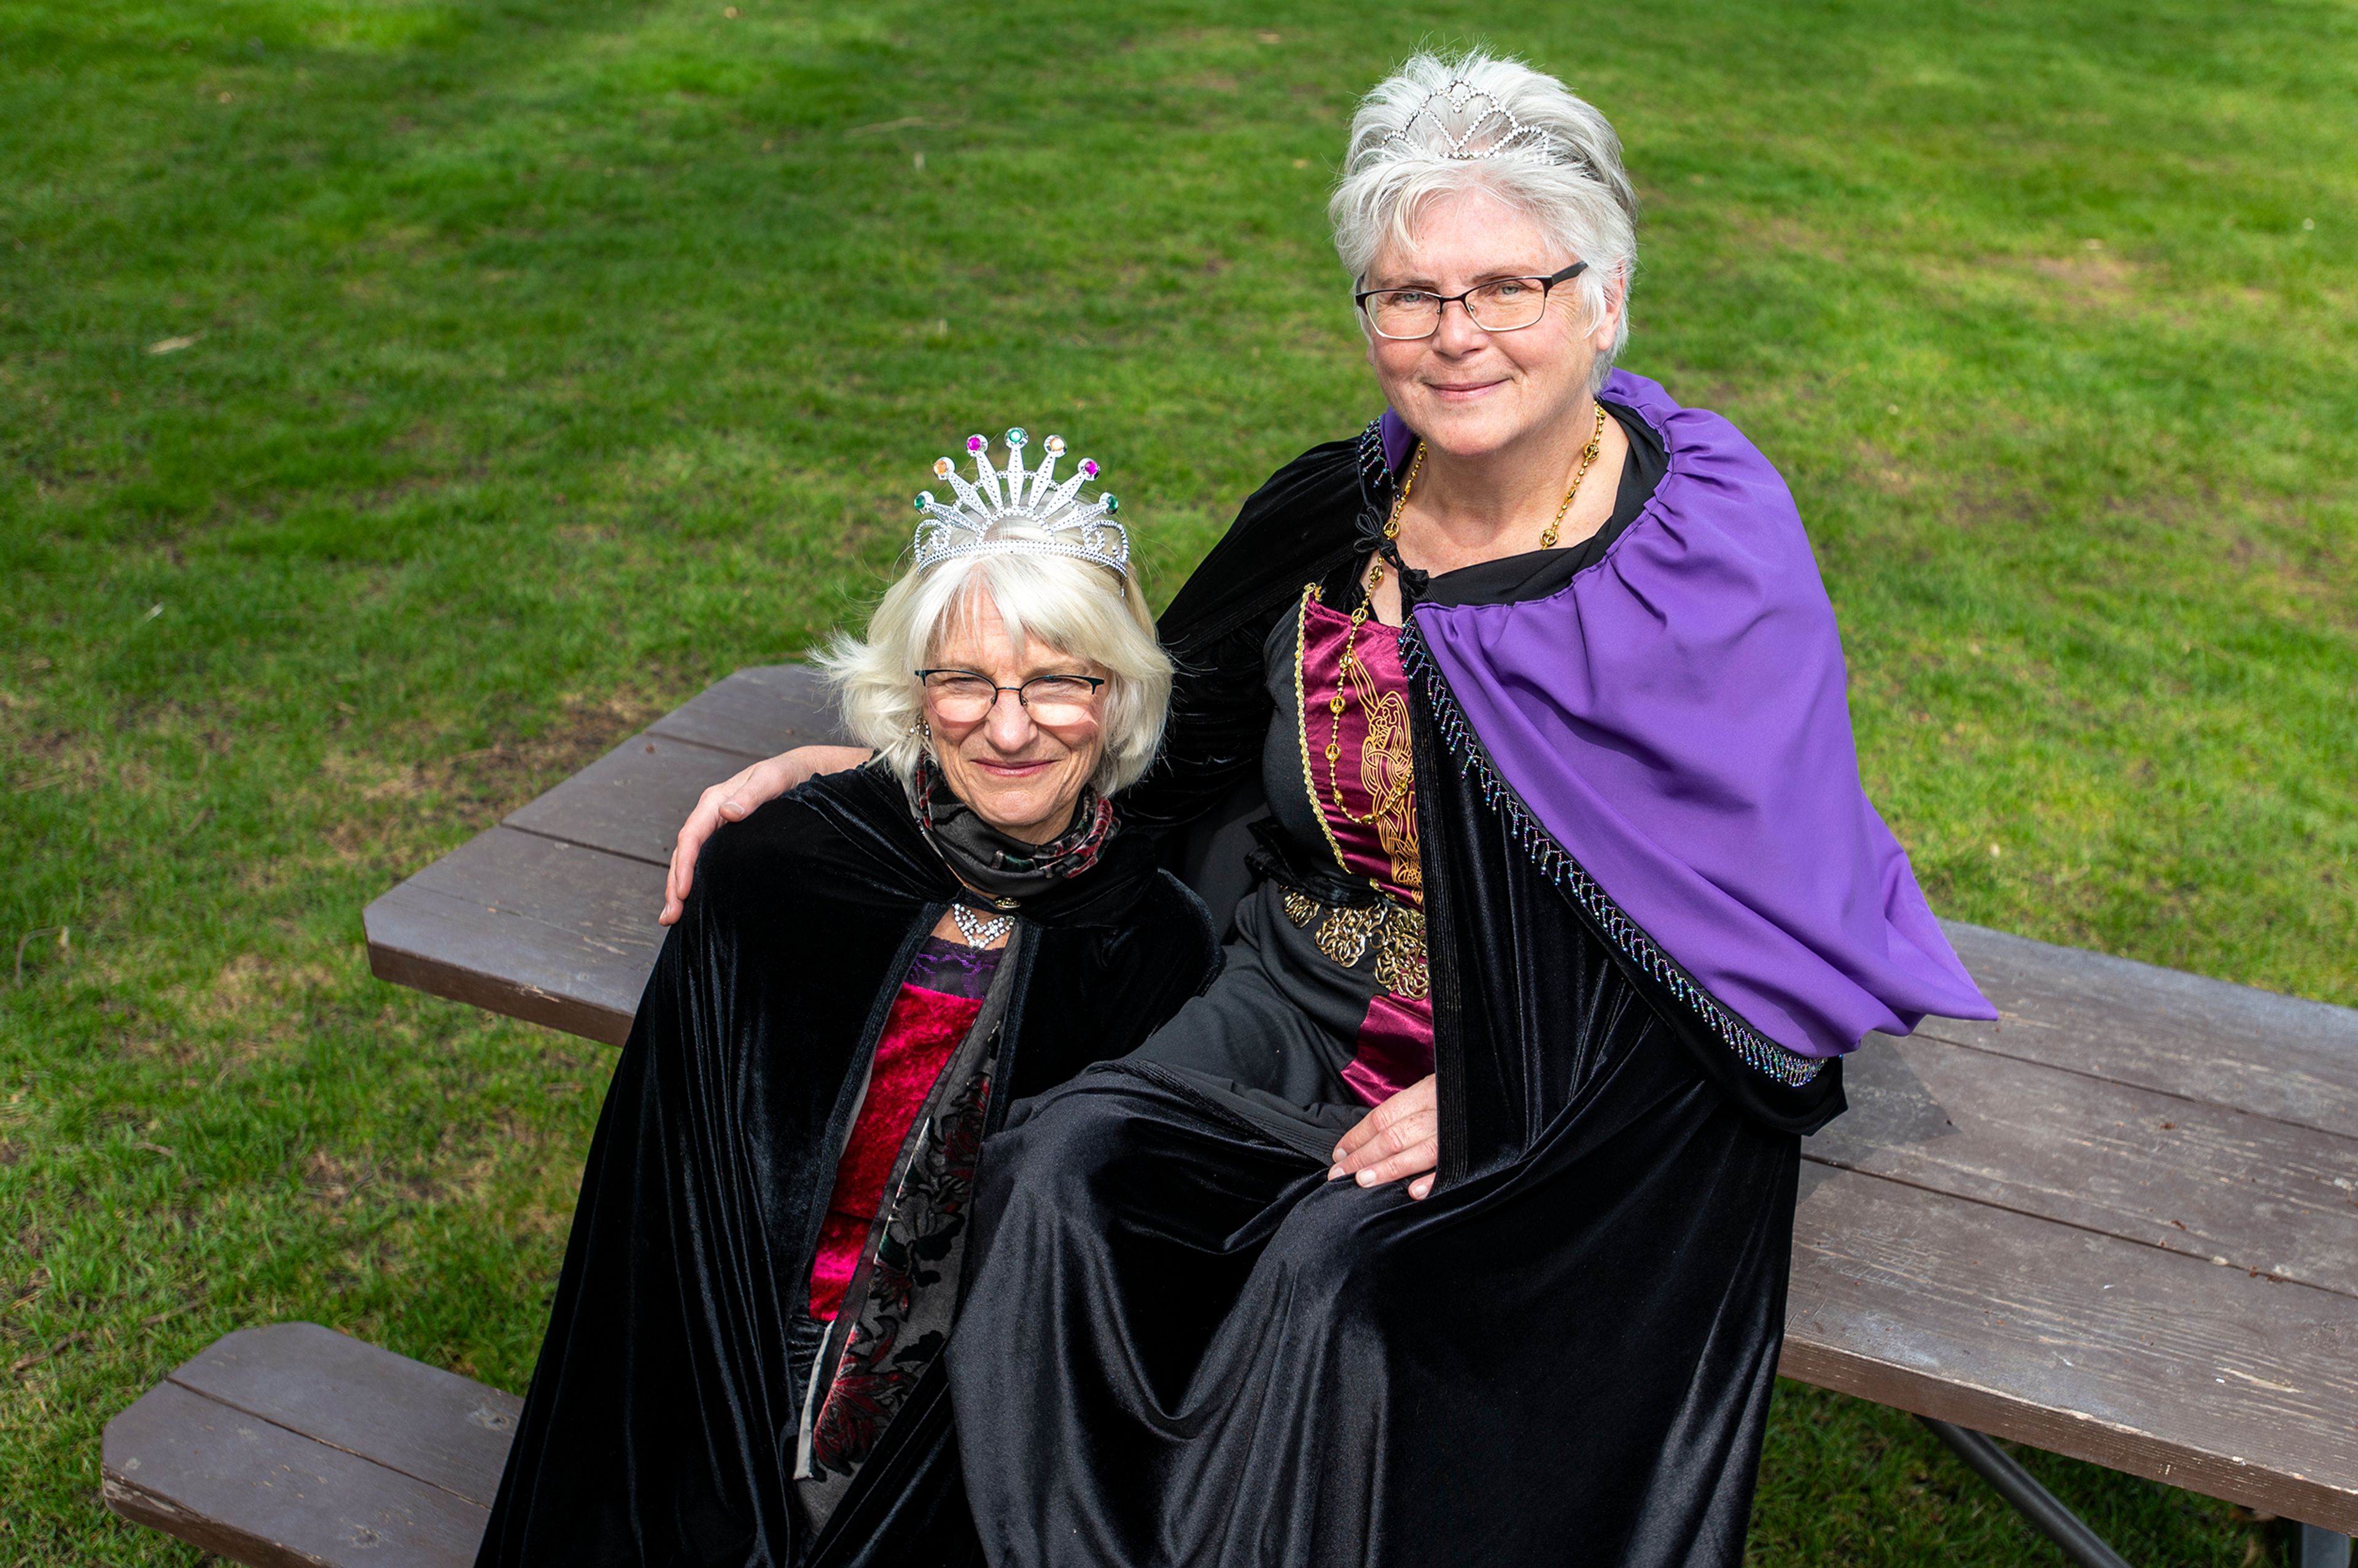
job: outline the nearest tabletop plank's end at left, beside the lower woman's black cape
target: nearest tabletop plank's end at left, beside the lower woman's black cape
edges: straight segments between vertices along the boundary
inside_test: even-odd
[[[493,828],[363,913],[399,986],[620,1045],[663,946],[663,868]]]

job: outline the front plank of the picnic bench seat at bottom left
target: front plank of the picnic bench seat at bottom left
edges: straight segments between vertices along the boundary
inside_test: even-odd
[[[490,1509],[174,1382],[106,1424],[106,1507],[255,1568],[469,1568]]]

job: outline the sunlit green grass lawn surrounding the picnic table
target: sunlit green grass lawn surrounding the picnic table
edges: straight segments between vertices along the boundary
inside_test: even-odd
[[[1629,363],[1792,479],[1934,903],[2358,1002],[2346,0],[738,5],[0,0],[0,1561],[196,1561],[97,1441],[231,1327],[523,1384],[611,1054],[361,905],[856,613],[969,429],[1167,594],[1372,410],[1320,196],[1420,40],[1618,120]],[[1799,1386],[1754,1559],[2061,1561]]]

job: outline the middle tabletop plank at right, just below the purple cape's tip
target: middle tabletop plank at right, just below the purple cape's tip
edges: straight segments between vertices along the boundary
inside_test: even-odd
[[[1809,1160],[2358,1297],[2358,1139],[1931,1037],[1872,1037]]]

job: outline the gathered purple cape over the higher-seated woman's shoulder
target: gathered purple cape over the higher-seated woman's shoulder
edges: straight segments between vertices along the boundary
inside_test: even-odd
[[[1615,370],[1603,396],[1669,453],[1636,521],[1544,599],[1412,615],[1457,759],[1592,913],[1634,922],[1634,957],[1667,955],[1768,1042],[1823,1059],[1924,1014],[1995,1019],[1858,783],[1835,606],[1785,481],[1646,377]],[[1398,469],[1412,436],[1387,413],[1384,439]]]

